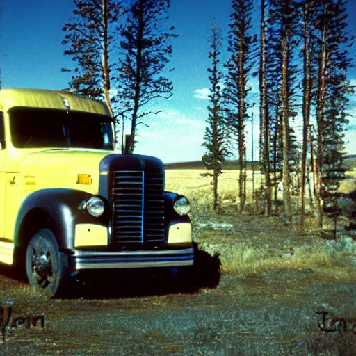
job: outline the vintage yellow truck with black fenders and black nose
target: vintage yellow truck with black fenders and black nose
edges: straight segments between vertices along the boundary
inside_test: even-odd
[[[161,160],[115,151],[102,102],[0,90],[0,262],[58,296],[83,270],[190,268],[190,205]],[[1,267],[1,265],[0,265]]]

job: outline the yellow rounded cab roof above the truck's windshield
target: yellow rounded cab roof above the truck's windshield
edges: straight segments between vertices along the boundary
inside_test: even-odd
[[[0,111],[7,112],[10,108],[18,106],[67,110],[65,99],[69,103],[70,110],[110,116],[106,105],[99,100],[72,95],[62,91],[42,89],[1,89]]]

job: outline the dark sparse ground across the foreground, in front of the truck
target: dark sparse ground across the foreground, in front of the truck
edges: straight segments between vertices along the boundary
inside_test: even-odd
[[[258,235],[255,226],[249,234]],[[204,229],[207,238],[219,235]],[[278,229],[282,236],[284,227]],[[307,239],[291,234],[297,245]],[[0,266],[0,305],[13,302],[13,318],[30,311],[45,318],[44,329],[38,323],[3,330],[0,355],[356,355],[355,266],[219,277],[217,259],[205,252],[198,259],[195,290],[167,276],[111,275],[56,300],[33,293]],[[325,332],[317,312],[354,321]],[[330,320],[321,326],[330,328]]]

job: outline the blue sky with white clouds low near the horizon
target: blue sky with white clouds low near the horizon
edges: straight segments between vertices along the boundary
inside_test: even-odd
[[[43,88],[59,90],[67,86],[70,74],[60,72],[72,61],[63,56],[62,26],[72,15],[72,0],[2,0],[0,5],[0,63],[3,88]],[[350,31],[356,35],[356,0],[348,0]],[[175,26],[179,38],[172,40],[173,56],[170,72],[174,92],[171,99],[154,103],[161,110],[147,118],[149,129],[140,125],[136,153],[159,156],[164,162],[199,160],[204,154],[201,146],[207,118],[209,80],[207,58],[211,22],[216,17],[218,26],[227,38],[229,0],[172,0],[169,24]],[[255,19],[257,22],[257,19]],[[356,48],[356,47],[355,47]],[[355,48],[353,51],[355,52]],[[356,84],[356,69],[349,72]],[[256,83],[252,93],[257,94]],[[355,109],[350,113],[356,116]],[[255,108],[254,141],[257,152],[258,108]],[[248,157],[250,157],[250,124]],[[356,118],[350,119],[346,133],[348,154],[356,154],[353,144]],[[257,159],[257,157],[254,157]]]

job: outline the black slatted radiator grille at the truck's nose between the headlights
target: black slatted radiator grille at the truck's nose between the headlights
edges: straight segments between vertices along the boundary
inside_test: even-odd
[[[162,175],[120,171],[113,176],[113,243],[165,241]]]

